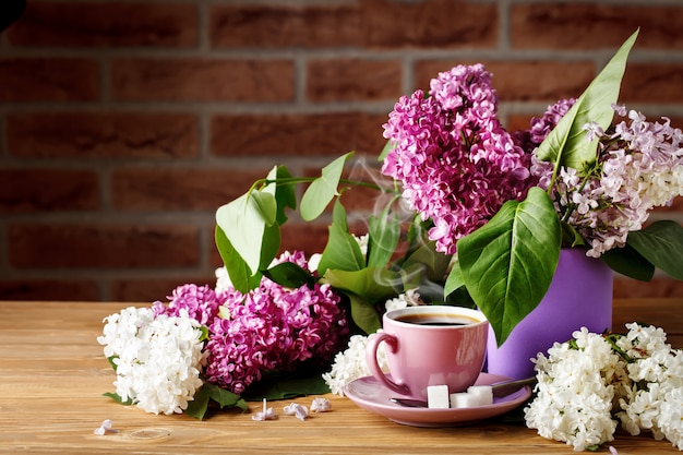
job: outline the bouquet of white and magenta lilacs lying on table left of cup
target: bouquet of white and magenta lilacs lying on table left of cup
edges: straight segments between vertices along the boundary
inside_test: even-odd
[[[276,262],[308,267],[302,252]],[[285,288],[266,277],[247,294],[229,284],[180,286],[168,303],[105,319],[98,342],[117,373],[116,393],[107,395],[148,412],[200,419],[209,402],[245,410],[250,386],[302,368],[319,371],[346,345],[338,303],[328,285]]]

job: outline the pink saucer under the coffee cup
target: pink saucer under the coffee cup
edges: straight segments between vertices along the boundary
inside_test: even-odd
[[[490,385],[507,380],[510,378],[481,373],[476,385]],[[373,376],[350,382],[344,387],[344,394],[359,407],[396,423],[411,427],[457,427],[513,410],[531,396],[531,388],[527,385],[507,396],[494,398],[492,405],[457,409],[409,408],[397,405],[391,402],[396,394],[381,385]]]

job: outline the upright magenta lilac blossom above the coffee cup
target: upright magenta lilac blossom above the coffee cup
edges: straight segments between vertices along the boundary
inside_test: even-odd
[[[403,183],[403,195],[434,223],[436,249],[484,225],[508,200],[522,200],[532,179],[530,155],[498,119],[491,74],[458,65],[431,81],[430,95],[404,96],[384,124],[394,144],[382,172]]]

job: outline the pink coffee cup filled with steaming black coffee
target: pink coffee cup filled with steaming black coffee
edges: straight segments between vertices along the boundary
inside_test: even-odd
[[[487,352],[489,322],[477,310],[448,306],[419,306],[390,311],[383,330],[368,339],[366,357],[372,375],[400,395],[427,399],[430,385],[450,393],[472,385]],[[390,374],[378,363],[378,348],[386,345]]]

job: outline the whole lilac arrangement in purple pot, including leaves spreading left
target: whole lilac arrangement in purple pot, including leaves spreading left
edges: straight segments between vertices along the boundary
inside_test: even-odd
[[[427,302],[479,307],[501,345],[546,295],[562,248],[582,248],[637,279],[649,280],[656,267],[683,279],[683,228],[646,224],[654,207],[683,194],[683,135],[668,119],[649,122],[616,104],[637,33],[579,97],[558,101],[525,131],[502,125],[481,64],[458,65],[433,79],[429,93],[400,97],[380,155],[388,184],[343,179],[350,154],[316,178],[274,168],[216,213],[230,278],[247,290],[263,274],[287,286],[310,277],[268,267],[285,211],[297,208],[293,187],[309,183],[299,203],[304,220],[335,201],[315,279],[343,295],[366,333],[380,328],[387,299],[419,288]],[[338,200],[354,184],[390,196],[367,219],[367,251]]]

